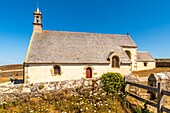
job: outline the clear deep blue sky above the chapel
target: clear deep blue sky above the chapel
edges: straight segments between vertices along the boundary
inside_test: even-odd
[[[170,0],[39,0],[44,30],[126,34],[139,51],[170,57]],[[0,65],[23,63],[36,0],[0,1]]]

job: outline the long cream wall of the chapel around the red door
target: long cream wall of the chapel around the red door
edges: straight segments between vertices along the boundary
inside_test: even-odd
[[[100,77],[103,73],[118,72],[122,75],[131,73],[130,66],[123,65],[120,68],[112,68],[110,65],[83,65],[61,64],[61,75],[52,76],[51,69],[54,64],[29,64],[25,67],[25,83],[52,82],[86,78],[86,67],[92,67],[92,77]]]

